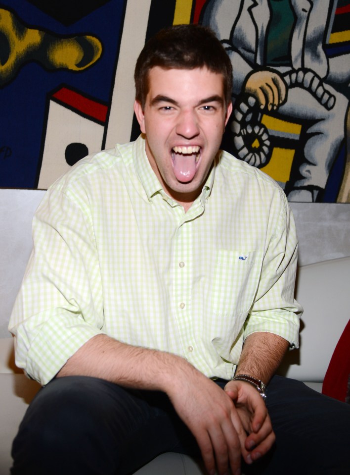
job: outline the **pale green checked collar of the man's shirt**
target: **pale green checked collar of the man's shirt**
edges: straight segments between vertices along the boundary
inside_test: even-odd
[[[135,168],[136,168],[136,173],[138,175],[138,178],[140,182],[143,185],[143,188],[147,194],[147,198],[149,201],[152,201],[152,197],[156,195],[157,193],[160,193],[162,196],[165,195],[165,192],[163,190],[163,187],[158,180],[156,174],[154,173],[148,157],[146,155],[146,141],[144,138],[144,135],[140,135],[135,143],[134,143],[134,159],[135,159]],[[215,169],[216,166],[219,162],[219,154],[215,158],[214,161],[214,166],[212,167],[207,180],[205,184],[203,185],[203,189],[201,194],[197,199],[200,200],[202,207],[204,208],[205,206],[205,201],[209,197],[213,184],[214,184],[214,178],[215,178]]]

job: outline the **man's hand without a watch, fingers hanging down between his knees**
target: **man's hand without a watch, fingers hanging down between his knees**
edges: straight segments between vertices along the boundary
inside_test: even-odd
[[[238,390],[234,389],[232,398],[231,391],[223,391],[196,370],[190,378],[181,381],[178,390],[175,385],[173,391],[168,392],[169,397],[195,436],[209,474],[215,474],[215,467],[219,475],[228,474],[229,467],[233,475],[240,474],[241,456],[250,463],[250,450],[246,447],[247,434],[241,416],[233,404]],[[245,423],[246,419],[243,417]],[[254,427],[256,425],[255,422]]]

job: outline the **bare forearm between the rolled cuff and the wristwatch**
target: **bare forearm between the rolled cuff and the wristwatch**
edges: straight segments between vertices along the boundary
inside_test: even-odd
[[[279,367],[288,346],[287,340],[273,333],[252,333],[244,342],[236,375],[249,374],[267,384]]]

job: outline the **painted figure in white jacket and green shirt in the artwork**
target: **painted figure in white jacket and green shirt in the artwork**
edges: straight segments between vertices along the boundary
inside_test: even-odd
[[[330,0],[209,0],[202,15],[202,24],[214,30],[231,58],[234,98],[247,92],[264,112],[303,124],[300,158],[285,189],[289,201],[322,201],[344,142],[349,101],[329,82],[349,82],[349,57],[335,61],[324,51],[333,5]],[[284,75],[292,71],[303,79],[290,88]],[[320,79],[334,98],[329,107],[317,89]]]

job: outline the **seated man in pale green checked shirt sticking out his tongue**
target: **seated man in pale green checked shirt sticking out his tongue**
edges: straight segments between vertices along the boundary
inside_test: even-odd
[[[297,240],[282,190],[219,151],[231,78],[212,32],[160,32],[135,68],[141,137],[48,191],[10,321],[17,365],[44,385],[12,474],[129,474],[170,450],[210,474],[280,473],[292,447],[318,470],[315,407],[346,446],[345,404],[272,377],[298,344]]]

